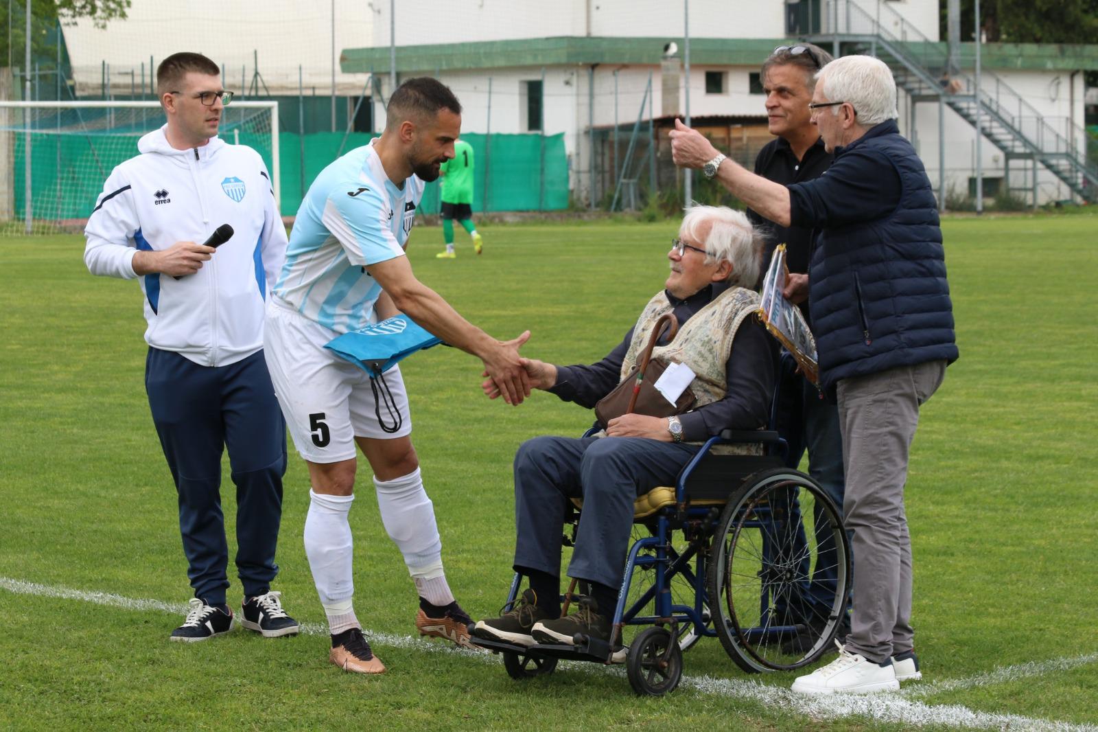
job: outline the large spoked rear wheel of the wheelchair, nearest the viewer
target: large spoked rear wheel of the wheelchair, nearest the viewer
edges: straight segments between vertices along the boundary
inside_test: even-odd
[[[839,510],[803,473],[757,473],[725,507],[707,579],[717,635],[740,668],[817,661],[833,645],[850,591]]]

